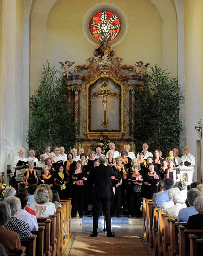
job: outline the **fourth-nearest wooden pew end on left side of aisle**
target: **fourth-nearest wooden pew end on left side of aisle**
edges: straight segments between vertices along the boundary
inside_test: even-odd
[[[51,256],[51,219],[46,219],[45,222],[38,222],[38,226],[45,226],[44,229],[44,251],[46,256]]]

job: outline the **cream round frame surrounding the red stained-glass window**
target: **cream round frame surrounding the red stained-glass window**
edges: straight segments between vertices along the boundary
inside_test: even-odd
[[[129,30],[129,22],[126,13],[121,9],[121,7],[114,3],[102,2],[91,6],[82,17],[82,33],[85,39],[88,41],[88,43],[94,46],[97,46],[99,44],[100,41],[92,36],[89,23],[96,13],[104,10],[108,10],[115,13],[118,16],[121,23],[121,30],[118,36],[115,39],[109,41],[109,44],[115,47],[121,44],[122,41],[126,38]]]

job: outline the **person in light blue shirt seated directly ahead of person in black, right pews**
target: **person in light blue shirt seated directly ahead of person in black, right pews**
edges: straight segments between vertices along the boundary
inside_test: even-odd
[[[194,200],[200,195],[201,195],[200,191],[196,188],[191,188],[187,192],[187,201],[190,206],[180,210],[178,214],[177,222],[187,222],[188,218],[191,215],[198,214],[198,212],[194,208]]]

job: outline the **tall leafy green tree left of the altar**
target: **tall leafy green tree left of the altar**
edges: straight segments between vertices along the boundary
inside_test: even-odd
[[[36,155],[48,144],[52,151],[56,146],[67,150],[75,146],[75,122],[68,109],[66,83],[49,62],[43,65],[39,89],[30,97],[30,109],[28,141]]]

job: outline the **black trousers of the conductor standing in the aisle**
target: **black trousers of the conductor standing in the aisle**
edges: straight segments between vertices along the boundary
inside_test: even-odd
[[[93,234],[98,234],[97,228],[98,228],[98,219],[99,219],[101,204],[103,205],[107,235],[111,234],[111,215],[110,215],[111,202],[110,201],[111,201],[110,197],[93,198],[93,226],[92,226]]]

